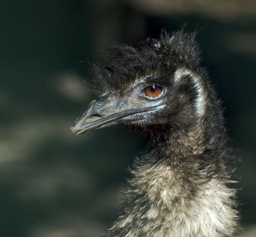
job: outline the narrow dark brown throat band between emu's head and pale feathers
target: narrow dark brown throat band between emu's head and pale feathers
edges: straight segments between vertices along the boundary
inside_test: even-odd
[[[207,133],[213,134],[211,144]],[[203,156],[205,152],[216,152],[218,144],[221,143],[225,143],[225,140],[216,137],[205,127],[202,119],[198,119],[185,129],[163,128],[160,133],[152,134],[148,155],[160,160],[168,159],[170,165],[175,165]]]

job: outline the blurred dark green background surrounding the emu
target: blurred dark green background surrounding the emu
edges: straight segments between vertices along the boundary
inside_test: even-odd
[[[98,236],[120,210],[145,146],[128,129],[75,136],[94,95],[90,62],[113,42],[198,30],[236,154],[242,236],[256,236],[255,0],[45,0],[0,3],[0,235]]]

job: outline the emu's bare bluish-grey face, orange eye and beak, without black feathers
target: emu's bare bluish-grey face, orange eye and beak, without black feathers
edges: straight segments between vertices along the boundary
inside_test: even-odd
[[[73,133],[81,134],[90,129],[122,123],[145,123],[166,107],[166,91],[164,85],[153,82],[151,77],[137,79],[135,85],[122,91],[122,96],[105,93],[93,100],[71,129]]]

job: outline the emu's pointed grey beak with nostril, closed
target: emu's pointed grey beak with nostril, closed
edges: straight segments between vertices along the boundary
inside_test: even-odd
[[[121,106],[116,100],[109,98],[108,95],[103,95],[90,103],[88,110],[75,121],[71,131],[75,135],[79,135],[89,130],[124,123],[127,120],[134,121],[136,119],[128,119],[128,116],[147,112],[154,108],[156,106],[150,108],[130,108],[129,106],[126,108],[125,105]]]

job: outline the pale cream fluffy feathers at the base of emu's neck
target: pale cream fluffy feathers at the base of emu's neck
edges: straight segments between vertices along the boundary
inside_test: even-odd
[[[115,229],[127,237],[232,236],[236,230],[237,213],[232,208],[235,191],[223,181],[211,179],[189,187],[191,184],[184,184],[168,167],[144,172],[134,173],[136,196],[128,193],[127,211],[111,228],[111,236],[117,236]]]

